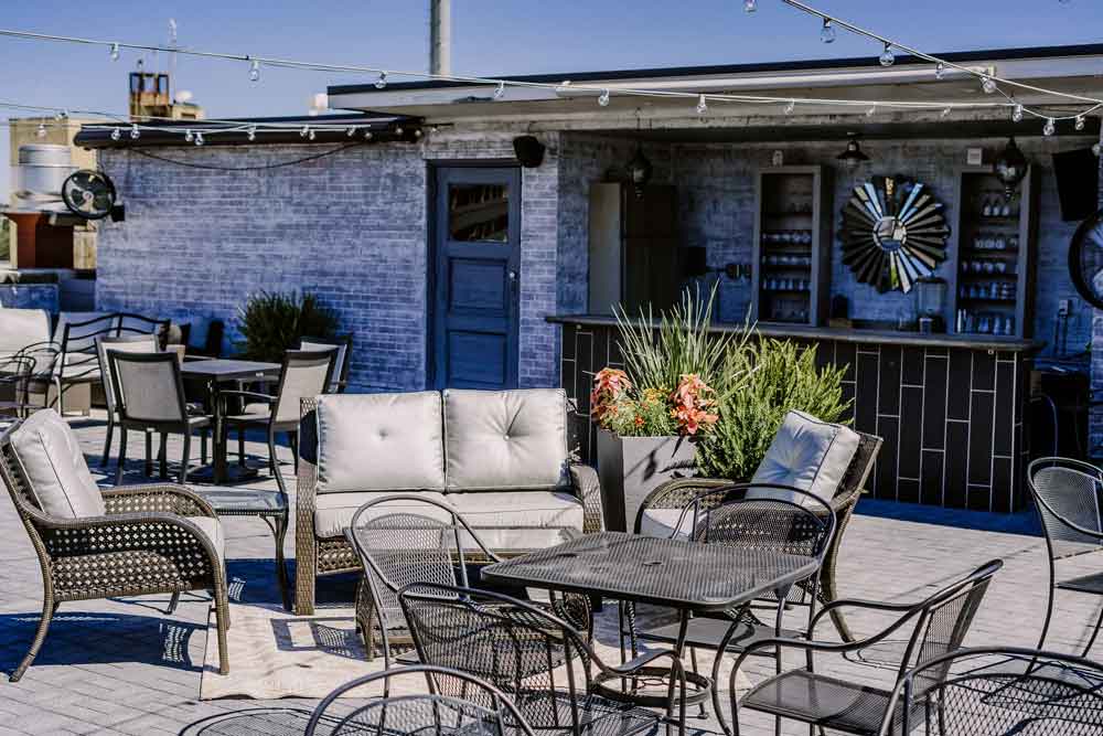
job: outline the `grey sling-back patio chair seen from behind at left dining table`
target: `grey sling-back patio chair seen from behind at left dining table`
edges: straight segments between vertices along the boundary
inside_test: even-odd
[[[191,460],[193,431],[207,431],[212,418],[196,414],[184,397],[184,384],[180,377],[180,361],[173,352],[129,353],[108,350],[115,384],[115,405],[119,412],[121,437],[119,444],[119,467],[115,471],[115,484],[122,484],[122,470],[127,460],[127,433],[137,430],[146,436],[146,472],[150,474],[150,433],[161,435],[161,474],[165,474],[165,436],[183,436],[180,459],[180,482],[188,482],[188,467]]]

